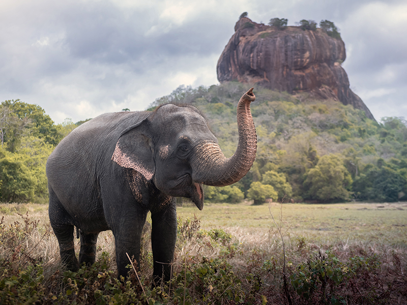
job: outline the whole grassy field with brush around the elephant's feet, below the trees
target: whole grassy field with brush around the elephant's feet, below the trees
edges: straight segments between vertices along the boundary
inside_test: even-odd
[[[177,211],[172,288],[147,288],[147,232],[140,275],[148,293],[142,294],[135,278],[131,289],[114,282],[110,231],[99,235],[97,263],[81,271],[89,273],[84,281],[60,265],[47,205],[0,204],[0,303],[18,303],[15,297],[24,295],[47,304],[407,304],[407,202],[205,204],[202,211],[184,203]],[[27,268],[29,281],[21,273]],[[113,286],[115,293],[106,288]]]

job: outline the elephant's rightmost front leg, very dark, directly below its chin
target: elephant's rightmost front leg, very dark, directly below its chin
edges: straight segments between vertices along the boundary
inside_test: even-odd
[[[169,202],[159,211],[151,212],[152,231],[151,246],[153,249],[154,283],[171,279],[171,263],[174,258],[177,240],[177,209],[175,198],[168,198]]]

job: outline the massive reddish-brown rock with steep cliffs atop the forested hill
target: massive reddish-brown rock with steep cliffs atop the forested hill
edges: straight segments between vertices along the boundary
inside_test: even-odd
[[[279,30],[241,18],[218,60],[218,80],[257,83],[290,94],[311,92],[351,104],[374,119],[349,88],[340,65],[345,58],[343,41],[322,29],[303,31],[299,26],[287,26]]]

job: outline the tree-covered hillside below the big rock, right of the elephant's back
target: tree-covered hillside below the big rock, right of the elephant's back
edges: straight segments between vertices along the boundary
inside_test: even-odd
[[[250,85],[226,82],[209,88],[180,86],[157,99],[188,103],[206,114],[226,155],[238,143],[236,106]],[[289,95],[254,88],[251,105],[257,132],[256,161],[234,186],[206,188],[206,199],[258,203],[407,199],[407,127],[403,118],[377,124],[362,110],[308,94]]]

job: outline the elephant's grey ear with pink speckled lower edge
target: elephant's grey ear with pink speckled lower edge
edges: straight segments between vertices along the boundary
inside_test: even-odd
[[[143,120],[126,129],[116,143],[111,160],[151,180],[155,173],[155,162],[147,125],[147,120]]]

